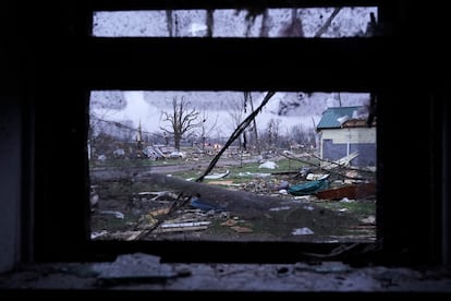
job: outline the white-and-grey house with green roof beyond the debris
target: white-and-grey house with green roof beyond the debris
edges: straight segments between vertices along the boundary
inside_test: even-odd
[[[376,167],[376,121],[368,125],[367,118],[364,106],[326,109],[316,128],[320,158],[334,161],[357,153],[351,166]]]

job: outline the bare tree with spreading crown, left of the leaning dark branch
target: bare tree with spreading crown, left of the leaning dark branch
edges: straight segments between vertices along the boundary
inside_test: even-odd
[[[183,135],[188,134],[190,131],[198,128],[197,122],[199,112],[191,106],[184,97],[178,100],[176,96],[172,98],[172,111],[162,112],[162,121],[168,121],[171,127],[166,129],[160,127],[160,130],[174,137],[174,147],[180,150],[180,142]]]

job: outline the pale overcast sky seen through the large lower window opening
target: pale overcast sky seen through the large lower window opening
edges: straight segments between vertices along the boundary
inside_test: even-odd
[[[173,97],[184,97],[193,108],[206,112],[212,122],[217,120],[217,127],[223,135],[229,135],[234,130],[231,120],[234,107],[231,104],[242,105],[242,92],[119,92],[123,96],[124,105],[119,109],[109,106],[111,99],[102,97],[105,92],[93,92],[93,99],[98,99],[92,107],[92,112],[101,119],[126,122],[137,128],[139,122],[143,131],[160,132],[160,127],[168,128],[170,124],[162,120],[162,111],[171,112],[170,101]],[[265,93],[253,93],[254,108],[263,100]],[[300,96],[301,95],[301,96]],[[103,105],[102,101],[105,100]],[[256,121],[259,130],[265,129],[269,121],[281,121],[280,130],[290,131],[294,125],[314,128],[319,122],[321,112],[327,107],[361,106],[369,101],[367,93],[303,93],[279,92],[264,107],[257,116]],[[211,105],[215,103],[215,105]],[[94,104],[94,101],[93,101]],[[245,118],[249,113],[243,113]]]

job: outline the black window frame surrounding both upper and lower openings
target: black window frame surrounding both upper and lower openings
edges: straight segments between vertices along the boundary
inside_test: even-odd
[[[75,1],[76,2],[76,1]],[[133,10],[173,8],[209,8],[211,1],[92,1],[72,3],[65,8],[64,17],[59,21],[60,35],[56,40],[42,38],[46,44],[37,48],[35,71],[35,210],[33,225],[34,257],[36,261],[95,261],[109,260],[121,253],[148,252],[168,262],[242,262],[279,263],[298,261],[343,260],[351,263],[381,263],[412,265],[437,262],[440,257],[440,242],[432,232],[437,225],[438,205],[434,200],[440,196],[436,183],[428,182],[418,195],[424,204],[415,201],[412,216],[406,225],[399,226],[397,216],[403,215],[405,202],[390,202],[403,197],[397,192],[393,166],[398,157],[390,149],[397,142],[390,129],[397,127],[397,115],[403,113],[403,101],[407,96],[414,99],[430,97],[430,85],[419,93],[404,93],[409,86],[394,82],[399,76],[416,83],[414,74],[402,70],[407,61],[402,60],[405,40],[393,38],[398,22],[394,4],[381,1],[294,1],[300,7],[377,5],[382,22],[392,24],[390,33],[381,37],[341,39],[168,39],[168,38],[95,38],[90,37],[92,13],[98,10]],[[234,1],[219,1],[215,7],[233,7]],[[288,1],[292,3],[293,1]],[[253,5],[255,1],[240,1]],[[285,1],[267,1],[278,7]],[[244,5],[243,4],[243,5]],[[58,10],[51,10],[51,15]],[[45,24],[54,28],[54,24]],[[153,53],[154,56],[149,56]],[[260,53],[260,56],[255,56]],[[56,60],[58,55],[61,59]],[[171,58],[171,61],[161,60]],[[271,58],[261,62],[260,57]],[[310,58],[305,61],[304,57]],[[400,60],[392,68],[391,62]],[[211,65],[215,69],[211,69]],[[136,71],[158,70],[150,73]],[[195,65],[196,73],[186,79],[184,70]],[[289,70],[284,68],[291,65]],[[50,69],[49,80],[39,79]],[[181,70],[181,72],[174,72]],[[249,71],[256,74],[253,80]],[[302,70],[293,76],[293,70]],[[337,75],[333,71],[341,70]],[[411,68],[406,68],[407,71]],[[234,74],[230,77],[229,74]],[[265,74],[278,74],[270,77]],[[380,76],[383,74],[385,76]],[[422,77],[423,79],[423,77]],[[302,84],[300,84],[302,83]],[[337,256],[312,257],[307,253],[331,254],[342,243],[295,243],[295,242],[173,242],[173,241],[90,241],[89,239],[89,176],[87,170],[88,95],[94,89],[239,89],[239,91],[305,91],[305,92],[370,92],[378,98],[378,162],[377,162],[377,236],[375,243],[356,243]],[[50,95],[49,91],[53,91]],[[50,111],[60,105],[64,95],[64,108],[69,115],[54,118]],[[430,98],[429,98],[430,99]],[[430,101],[426,109],[437,111]],[[424,110],[414,108],[416,113]],[[415,129],[425,135],[437,127],[431,122],[425,129]],[[411,137],[411,135],[407,135]],[[428,154],[440,148],[436,136],[427,137],[420,150]],[[50,154],[49,145],[58,142],[61,152]],[[405,149],[405,147],[403,148]],[[66,160],[71,172],[68,182],[61,179],[61,160]],[[422,165],[420,172],[437,178],[437,162]],[[407,165],[402,165],[407,170]],[[434,169],[434,170],[432,170]],[[401,183],[406,183],[401,180]],[[394,191],[394,193],[393,193]],[[409,192],[409,196],[415,196]],[[64,196],[64,203],[61,202]],[[425,217],[426,215],[426,217]],[[424,218],[420,225],[415,220]],[[28,222],[28,221],[26,221]],[[422,226],[422,227],[420,227]],[[412,234],[417,231],[417,236]],[[383,239],[382,239],[383,238]],[[181,248],[184,250],[180,252]],[[265,252],[261,252],[265,250]]]

